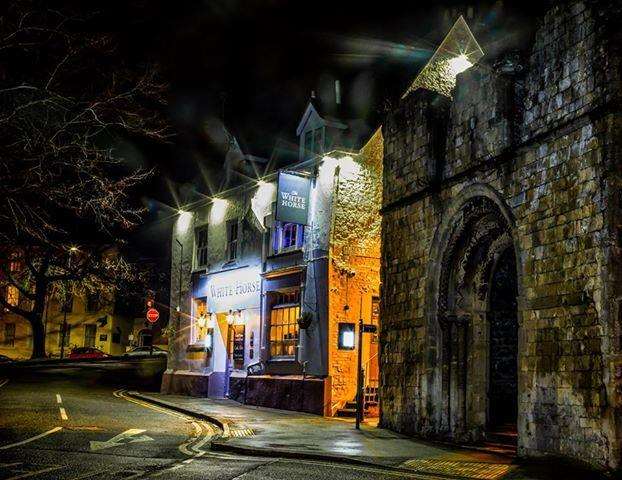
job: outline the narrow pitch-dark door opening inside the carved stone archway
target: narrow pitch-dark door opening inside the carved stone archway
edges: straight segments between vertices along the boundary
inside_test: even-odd
[[[516,431],[518,415],[518,313],[513,249],[499,257],[490,282],[488,430]]]

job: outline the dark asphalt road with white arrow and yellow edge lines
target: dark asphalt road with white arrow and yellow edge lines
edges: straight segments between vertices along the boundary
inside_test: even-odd
[[[0,480],[431,478],[210,452],[216,427],[139,402],[110,372],[0,373]]]

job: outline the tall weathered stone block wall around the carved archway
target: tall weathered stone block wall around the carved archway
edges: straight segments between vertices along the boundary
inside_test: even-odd
[[[420,90],[389,115],[383,426],[453,440],[485,435],[489,305],[474,295],[458,312],[470,322],[461,327],[469,339],[462,394],[445,384],[447,330],[437,313],[448,232],[470,200],[486,198],[506,217],[517,260],[519,454],[619,467],[616,22],[619,2],[553,6],[524,70],[473,67],[458,77],[453,101]]]

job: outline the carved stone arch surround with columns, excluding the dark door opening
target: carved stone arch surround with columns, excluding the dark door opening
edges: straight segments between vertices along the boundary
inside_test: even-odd
[[[518,284],[509,210],[486,187],[474,190],[448,209],[429,277],[434,283],[428,291],[428,318],[437,359],[438,420],[441,432],[455,441],[481,439],[490,422],[490,320],[495,318],[490,292],[500,259],[506,270],[513,269],[512,280]],[[517,292],[512,321],[518,331],[516,300]]]

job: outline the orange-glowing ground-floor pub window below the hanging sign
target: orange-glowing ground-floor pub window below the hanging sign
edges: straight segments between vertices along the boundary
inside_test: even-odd
[[[274,294],[270,311],[270,357],[295,358],[299,316],[300,290]]]

